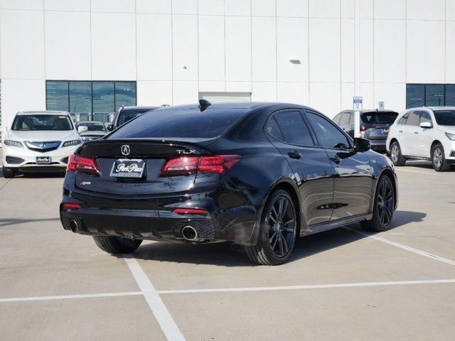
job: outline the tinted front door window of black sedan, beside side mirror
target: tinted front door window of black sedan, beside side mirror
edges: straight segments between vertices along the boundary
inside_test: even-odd
[[[314,134],[316,134],[316,139],[318,139],[321,146],[327,148],[350,148],[348,138],[336,126],[333,126],[331,121],[312,112],[307,112],[306,117],[308,117]]]

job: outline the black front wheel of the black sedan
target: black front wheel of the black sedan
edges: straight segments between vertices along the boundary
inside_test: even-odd
[[[391,228],[394,210],[395,193],[392,180],[388,175],[382,175],[376,186],[373,218],[360,222],[360,225],[368,231],[387,231]]]

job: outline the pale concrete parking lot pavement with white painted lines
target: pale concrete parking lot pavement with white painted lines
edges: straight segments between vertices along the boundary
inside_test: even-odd
[[[253,266],[228,244],[106,254],[61,227],[61,176],[0,171],[0,339],[453,340],[455,169],[397,175],[390,231],[333,229]]]

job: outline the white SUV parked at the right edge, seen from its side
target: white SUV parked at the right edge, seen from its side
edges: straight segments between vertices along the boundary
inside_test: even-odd
[[[390,126],[387,152],[395,166],[425,159],[436,171],[455,163],[455,107],[421,107],[402,112]]]

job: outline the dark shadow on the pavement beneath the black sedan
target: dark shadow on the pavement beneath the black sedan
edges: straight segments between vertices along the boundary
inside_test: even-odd
[[[425,213],[396,211],[393,228],[410,222],[422,222]],[[349,226],[361,229],[359,224]],[[296,240],[294,252],[289,262],[303,259],[319,252],[335,249],[365,238],[347,229],[331,229],[326,232],[311,234]],[[171,242],[155,242],[145,244],[134,251],[137,259],[153,261],[170,261],[174,263],[209,264],[218,266],[253,266],[243,253],[243,247],[231,243],[216,244],[176,244]]]

